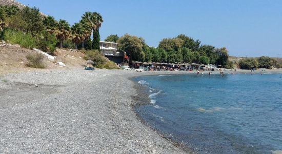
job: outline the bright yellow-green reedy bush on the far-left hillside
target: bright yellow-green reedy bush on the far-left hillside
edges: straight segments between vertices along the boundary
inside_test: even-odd
[[[36,39],[32,36],[31,33],[16,31],[12,29],[4,30],[4,40],[10,41],[14,44],[19,44],[25,48],[34,48],[36,47]]]

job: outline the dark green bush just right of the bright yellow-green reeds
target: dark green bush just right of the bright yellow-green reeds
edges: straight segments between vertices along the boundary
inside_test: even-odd
[[[43,31],[41,37],[39,37],[37,41],[37,48],[53,55],[57,43],[58,41],[56,40],[55,34],[50,34],[47,31]]]

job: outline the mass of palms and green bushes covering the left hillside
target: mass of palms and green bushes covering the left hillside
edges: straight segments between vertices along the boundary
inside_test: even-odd
[[[99,28],[102,23],[103,17],[97,12],[86,12],[78,23],[70,27],[65,20],[56,21],[52,16],[43,16],[35,7],[19,9],[13,5],[0,5],[2,39],[23,47],[37,47],[51,54],[55,47],[62,48],[64,44],[76,49],[84,48],[84,43],[91,41],[92,34],[93,43],[88,49],[99,50]],[[27,40],[32,43],[27,44]]]

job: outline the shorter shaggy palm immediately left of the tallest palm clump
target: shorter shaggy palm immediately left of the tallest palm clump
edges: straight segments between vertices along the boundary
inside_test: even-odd
[[[85,29],[81,23],[75,23],[71,27],[72,41],[77,49],[77,44],[81,43],[82,40],[85,40]]]

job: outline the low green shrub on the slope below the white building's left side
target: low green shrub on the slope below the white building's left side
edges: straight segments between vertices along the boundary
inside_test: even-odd
[[[98,50],[88,50],[84,57],[85,60],[92,60],[95,65],[103,65],[107,63],[106,58]]]

